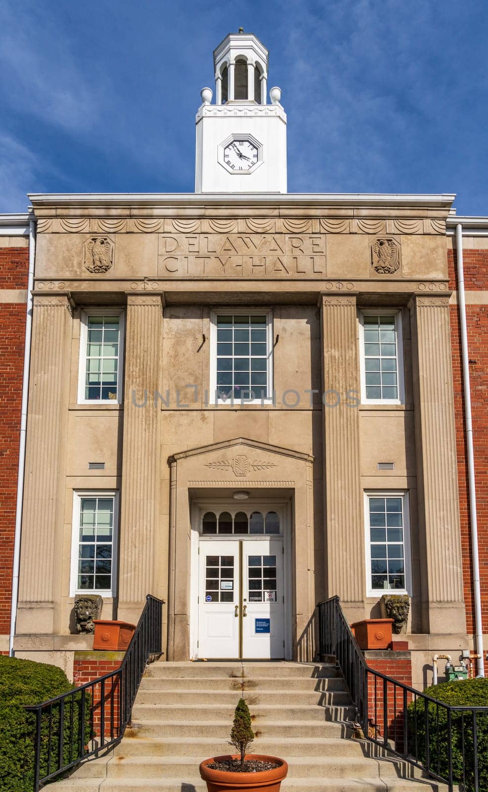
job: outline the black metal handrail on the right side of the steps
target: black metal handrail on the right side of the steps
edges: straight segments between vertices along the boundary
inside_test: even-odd
[[[339,596],[318,604],[320,655],[333,655],[349,688],[355,721],[369,741],[463,792],[485,792],[488,706],[451,706],[369,668]]]

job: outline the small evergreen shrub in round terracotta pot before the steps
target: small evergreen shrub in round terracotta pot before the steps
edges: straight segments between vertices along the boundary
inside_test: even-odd
[[[286,778],[288,765],[278,756],[248,754],[254,740],[251,714],[244,699],[239,699],[234,714],[230,743],[239,753],[233,756],[214,756],[200,764],[200,775],[208,792],[279,792]]]

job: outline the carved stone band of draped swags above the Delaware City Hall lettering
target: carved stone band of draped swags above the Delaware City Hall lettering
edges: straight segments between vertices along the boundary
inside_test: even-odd
[[[445,234],[444,219],[334,217],[41,218],[39,234]]]

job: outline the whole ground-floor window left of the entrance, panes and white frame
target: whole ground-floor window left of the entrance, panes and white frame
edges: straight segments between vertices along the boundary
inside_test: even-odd
[[[71,594],[115,594],[117,493],[74,493]]]

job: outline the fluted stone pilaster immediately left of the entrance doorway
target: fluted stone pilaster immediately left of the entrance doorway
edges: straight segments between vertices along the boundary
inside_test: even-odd
[[[162,331],[161,295],[127,295],[118,616],[132,623],[156,593]]]

